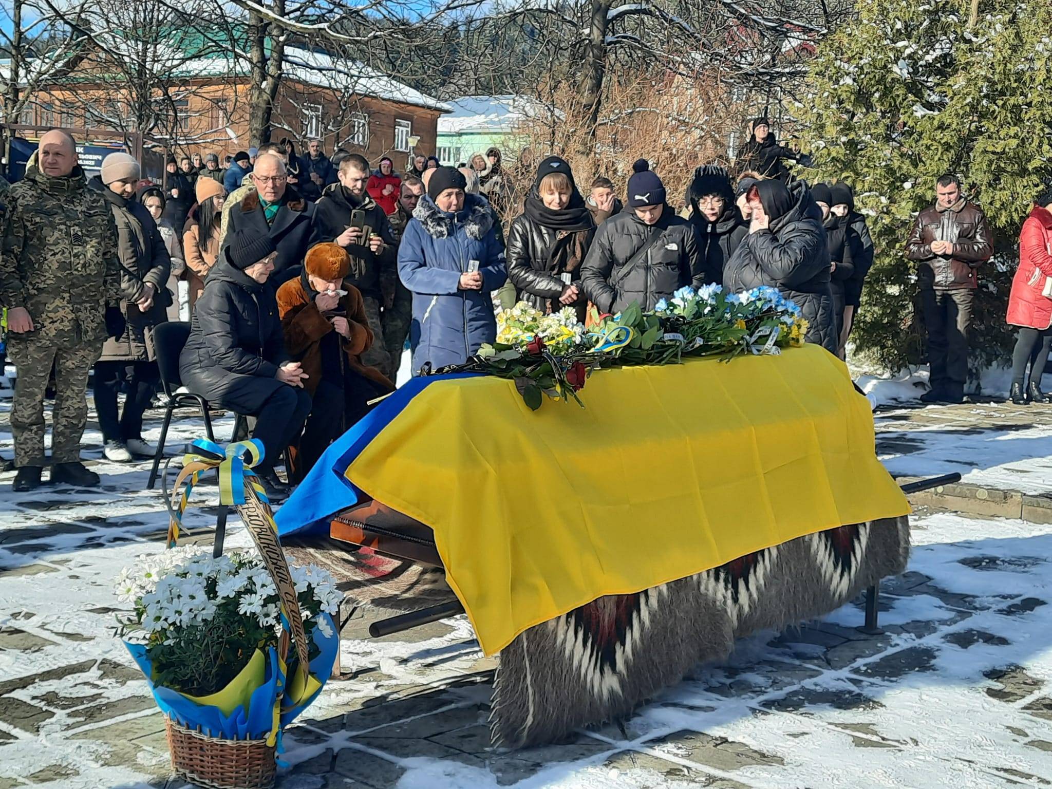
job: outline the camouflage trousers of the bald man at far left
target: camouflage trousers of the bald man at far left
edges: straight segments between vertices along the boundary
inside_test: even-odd
[[[76,345],[13,339],[7,356],[18,368],[11,429],[15,465],[44,465],[44,390],[55,365],[52,463],[80,460],[80,437],[87,421],[87,373],[102,353],[102,342]]]

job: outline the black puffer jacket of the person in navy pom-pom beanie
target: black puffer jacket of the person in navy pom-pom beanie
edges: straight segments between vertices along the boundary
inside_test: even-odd
[[[643,259],[627,265],[654,234],[661,238]],[[633,302],[645,310],[653,309],[685,285],[704,285],[694,226],[668,205],[653,225],[644,223],[632,209],[610,217],[595,231],[581,266],[581,282],[585,295],[603,312],[619,312]]]

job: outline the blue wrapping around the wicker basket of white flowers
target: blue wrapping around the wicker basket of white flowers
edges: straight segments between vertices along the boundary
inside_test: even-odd
[[[267,668],[263,684],[252,691],[248,709],[238,707],[226,716],[219,707],[195,704],[189,699],[170,688],[155,685],[150,677],[154,666],[146,656],[146,647],[141,644],[124,642],[132,659],[146,677],[146,684],[161,712],[176,722],[190,728],[200,728],[208,736],[227,740],[261,740],[269,736],[274,728],[274,703],[278,697],[278,688],[284,683],[281,666],[278,663],[278,652],[274,647],[267,649]],[[331,670],[331,664],[329,665]],[[322,675],[328,679],[328,673]],[[304,705],[305,706],[305,705]]]

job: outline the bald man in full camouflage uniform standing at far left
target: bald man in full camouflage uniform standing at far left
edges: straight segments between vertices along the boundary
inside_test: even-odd
[[[0,246],[0,304],[7,308],[8,355],[18,367],[11,426],[15,490],[40,484],[44,389],[55,365],[52,482],[98,485],[80,463],[87,372],[107,336],[123,331],[117,226],[87,188],[73,138],[53,130],[6,195]]]

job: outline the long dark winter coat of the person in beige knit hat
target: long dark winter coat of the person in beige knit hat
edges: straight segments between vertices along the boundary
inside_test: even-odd
[[[154,326],[167,319],[165,302],[171,260],[154,217],[138,200],[125,200],[102,184],[96,176],[88,186],[97,189],[109,205],[117,223],[117,251],[121,263],[122,290],[135,290],[135,298],[121,301],[126,319],[124,333],[106,338],[102,346],[103,362],[147,362],[156,358]],[[154,305],[145,312],[136,306],[145,286],[154,286]]]

